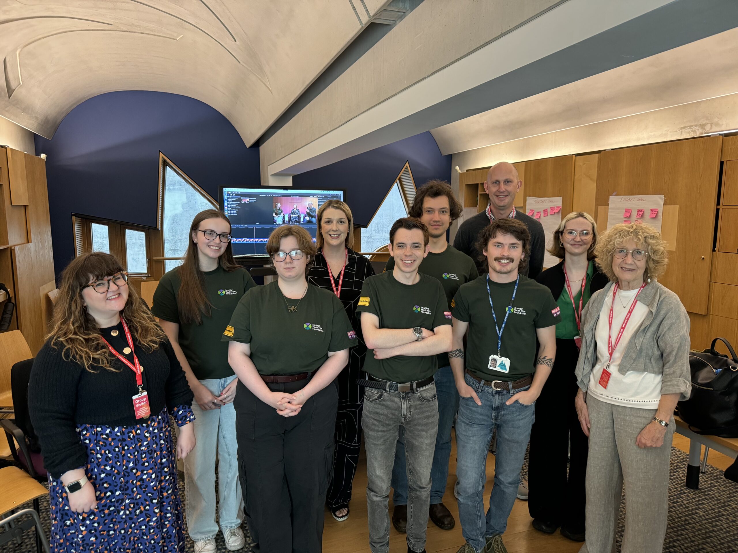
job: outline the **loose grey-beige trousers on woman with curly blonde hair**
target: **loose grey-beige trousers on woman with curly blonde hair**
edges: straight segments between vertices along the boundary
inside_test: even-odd
[[[660,448],[639,448],[635,439],[655,409],[604,403],[587,395],[590,452],[587,458],[587,541],[579,553],[615,553],[615,527],[625,482],[622,553],[661,553],[669,504],[669,459],[674,417]]]

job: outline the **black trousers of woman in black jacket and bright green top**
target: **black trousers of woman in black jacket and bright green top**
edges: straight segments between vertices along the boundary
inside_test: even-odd
[[[574,368],[579,349],[556,338],[556,361],[536,401],[528,453],[528,512],[531,517],[584,532],[587,437],[576,417]],[[571,443],[567,475],[567,451]]]

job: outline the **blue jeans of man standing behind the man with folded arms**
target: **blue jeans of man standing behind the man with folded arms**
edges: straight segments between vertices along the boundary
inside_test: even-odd
[[[438,394],[438,435],[435,437],[433,465],[430,469],[430,504],[444,501],[446,481],[449,479],[449,457],[451,456],[451,427],[459,407],[459,394],[456,391],[454,375],[450,366],[441,367],[433,377],[435,392]],[[405,459],[404,434],[400,431],[395,451],[395,466],[392,470],[392,487],[395,505],[407,505],[407,459]]]

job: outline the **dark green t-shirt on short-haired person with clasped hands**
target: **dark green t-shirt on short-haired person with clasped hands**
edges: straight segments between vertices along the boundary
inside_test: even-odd
[[[249,291],[221,329],[222,340],[251,344],[251,361],[261,375],[314,372],[328,352],[356,346],[356,333],[341,300],[314,285],[289,313],[277,281]]]

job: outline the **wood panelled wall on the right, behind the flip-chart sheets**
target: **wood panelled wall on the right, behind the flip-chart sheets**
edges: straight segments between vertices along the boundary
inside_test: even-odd
[[[527,196],[560,195],[562,215],[590,213],[601,229],[607,226],[610,195],[663,195],[662,234],[669,242],[669,268],[661,282],[680,296],[689,312],[692,348],[704,349],[716,336],[738,346],[738,136],[514,165],[523,179],[516,206],[525,206]],[[486,207],[482,184],[488,169],[459,175],[465,207]]]

